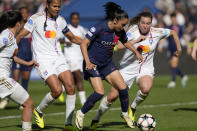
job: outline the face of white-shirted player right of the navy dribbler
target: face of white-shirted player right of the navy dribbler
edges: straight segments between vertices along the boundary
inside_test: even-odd
[[[138,23],[138,27],[140,29],[140,32],[142,34],[147,34],[150,30],[151,23],[152,23],[152,20],[150,17],[143,17],[142,16],[139,23]]]

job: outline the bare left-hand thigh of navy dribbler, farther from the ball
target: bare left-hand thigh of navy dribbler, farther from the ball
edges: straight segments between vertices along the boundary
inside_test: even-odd
[[[90,83],[95,92],[104,95],[104,85],[100,77],[90,77]]]

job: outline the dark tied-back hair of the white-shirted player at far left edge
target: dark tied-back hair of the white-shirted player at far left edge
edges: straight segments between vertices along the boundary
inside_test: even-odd
[[[22,15],[19,11],[8,11],[0,16],[0,33],[8,27],[14,27],[17,22],[22,21]]]

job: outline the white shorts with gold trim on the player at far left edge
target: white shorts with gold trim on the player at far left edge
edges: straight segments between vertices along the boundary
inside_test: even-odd
[[[0,98],[9,97],[18,104],[29,98],[27,91],[12,78],[0,78]]]

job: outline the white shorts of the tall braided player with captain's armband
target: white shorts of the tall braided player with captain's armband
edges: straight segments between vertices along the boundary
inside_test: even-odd
[[[57,59],[53,60],[44,60],[39,63],[39,67],[37,67],[37,71],[40,77],[46,80],[51,75],[61,74],[64,71],[70,70],[68,62],[65,60],[64,57],[58,57]]]

